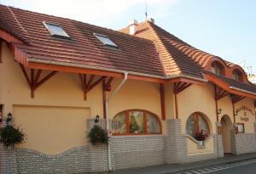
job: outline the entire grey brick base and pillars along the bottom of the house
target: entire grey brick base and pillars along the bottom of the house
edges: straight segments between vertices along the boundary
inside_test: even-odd
[[[106,120],[87,121],[89,131],[95,124],[106,128]],[[111,126],[111,124],[110,124]],[[181,132],[179,120],[166,121],[166,135],[112,136],[109,144],[113,170],[188,163],[223,157],[221,135],[213,135],[212,154],[188,155],[187,137]],[[84,133],[84,138],[88,132]],[[234,154],[256,151],[256,134],[231,134]],[[48,155],[32,149],[5,149],[0,145],[0,173],[84,173],[108,171],[108,146],[91,145]]]

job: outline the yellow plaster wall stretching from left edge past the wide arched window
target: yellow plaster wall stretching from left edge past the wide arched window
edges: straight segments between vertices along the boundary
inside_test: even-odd
[[[0,81],[3,115],[13,113],[15,124],[23,128],[27,135],[26,143],[20,145],[22,148],[58,154],[84,145],[88,142],[85,121],[96,115],[103,116],[102,85],[92,89],[87,95],[87,101],[84,101],[77,74],[57,73],[38,87],[35,98],[31,98],[20,65],[15,62],[5,44],[3,64],[0,64]],[[114,79],[112,89],[119,82]],[[160,116],[159,84],[127,81],[109,104],[110,118],[125,109],[147,109]],[[66,137],[62,131],[67,133]],[[52,134],[49,141],[46,141],[49,132]]]

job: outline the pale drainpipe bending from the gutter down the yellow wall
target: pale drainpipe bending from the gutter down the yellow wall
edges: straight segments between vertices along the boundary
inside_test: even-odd
[[[113,96],[115,96],[115,94],[119,92],[119,89],[125,84],[125,81],[127,80],[127,76],[128,76],[128,73],[125,72],[124,73],[123,81],[120,82],[119,86],[106,99],[105,105],[106,105],[106,120],[107,120],[106,124],[107,124],[108,138],[111,137],[110,134],[109,134],[109,111],[108,111],[109,109],[108,109],[108,103],[113,98]],[[112,171],[111,149],[110,149],[110,144],[109,143],[108,143],[108,170]]]

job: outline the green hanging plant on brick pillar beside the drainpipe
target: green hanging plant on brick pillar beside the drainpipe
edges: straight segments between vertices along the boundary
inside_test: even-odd
[[[96,143],[108,143],[108,132],[102,129],[101,126],[93,126],[88,134],[90,143],[95,145]]]

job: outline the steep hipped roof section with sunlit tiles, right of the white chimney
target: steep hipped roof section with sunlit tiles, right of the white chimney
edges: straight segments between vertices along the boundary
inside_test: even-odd
[[[202,68],[209,59],[215,57],[190,46],[151,22],[140,23],[137,27],[136,36],[150,39],[156,43],[167,75],[183,74],[203,78]],[[129,28],[126,27],[120,31],[129,33]]]

